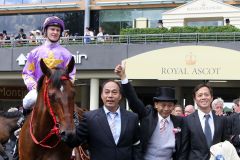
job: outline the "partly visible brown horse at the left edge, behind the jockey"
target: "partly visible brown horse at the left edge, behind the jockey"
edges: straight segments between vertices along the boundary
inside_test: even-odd
[[[14,134],[14,131],[18,129],[17,121],[21,117],[22,112],[1,112],[0,113],[0,155],[4,160],[8,160],[8,155],[4,151],[3,145],[6,144]]]

